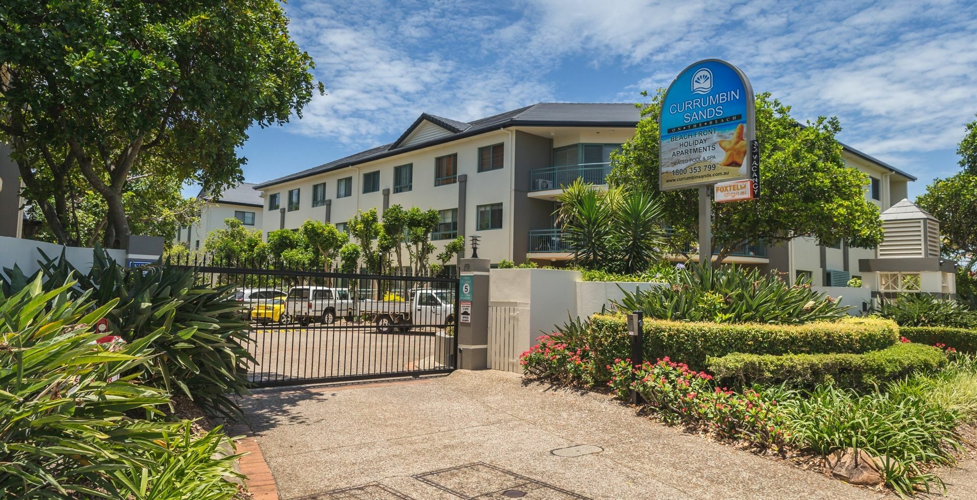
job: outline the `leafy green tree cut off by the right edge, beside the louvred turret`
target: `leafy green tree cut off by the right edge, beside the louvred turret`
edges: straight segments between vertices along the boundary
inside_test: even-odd
[[[940,220],[941,253],[977,271],[977,120],[966,131],[956,147],[963,171],[933,181],[916,204]]]

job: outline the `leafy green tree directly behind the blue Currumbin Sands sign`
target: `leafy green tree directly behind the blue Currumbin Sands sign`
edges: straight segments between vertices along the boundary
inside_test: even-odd
[[[658,190],[658,118],[662,91],[642,106],[635,135],[612,154],[609,182],[660,196],[663,222],[676,247],[698,240],[698,189]],[[776,244],[811,236],[824,244],[839,240],[871,248],[882,241],[879,211],[865,197],[866,174],[845,166],[837,118],[820,117],[800,126],[790,107],[770,94],[756,97],[760,145],[760,199],[713,203],[713,255],[724,259],[748,244]]]

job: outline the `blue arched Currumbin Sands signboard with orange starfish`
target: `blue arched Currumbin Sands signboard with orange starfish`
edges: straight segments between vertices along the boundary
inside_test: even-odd
[[[729,62],[708,59],[679,73],[661,103],[658,188],[750,179],[754,107],[749,80]]]

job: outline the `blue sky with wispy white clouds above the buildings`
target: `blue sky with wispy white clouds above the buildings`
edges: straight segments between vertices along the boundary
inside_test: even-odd
[[[396,139],[421,112],[471,120],[537,102],[634,103],[720,58],[800,119],[919,178],[953,175],[977,113],[977,4],[946,1],[292,0],[328,95],[253,128],[263,182]],[[189,194],[195,194],[188,189]]]

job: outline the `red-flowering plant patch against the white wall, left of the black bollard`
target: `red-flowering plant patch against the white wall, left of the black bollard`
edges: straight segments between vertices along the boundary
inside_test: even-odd
[[[594,384],[594,360],[588,347],[574,348],[550,335],[536,340],[539,344],[519,356],[525,375],[554,377],[566,384]]]

